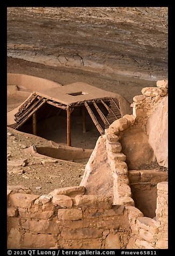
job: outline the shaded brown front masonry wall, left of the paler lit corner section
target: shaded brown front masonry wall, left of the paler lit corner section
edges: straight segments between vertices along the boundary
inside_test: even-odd
[[[68,187],[37,196],[10,186],[8,248],[126,248],[125,206],[84,193],[84,187]]]

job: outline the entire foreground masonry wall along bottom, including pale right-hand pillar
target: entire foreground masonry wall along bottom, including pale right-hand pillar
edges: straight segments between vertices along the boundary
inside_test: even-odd
[[[167,182],[157,184],[156,218],[84,187],[37,196],[8,188],[8,248],[167,248]]]

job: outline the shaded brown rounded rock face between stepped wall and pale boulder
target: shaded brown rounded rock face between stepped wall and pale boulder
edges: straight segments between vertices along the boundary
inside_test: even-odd
[[[122,152],[126,155],[128,169],[137,169],[143,164],[149,164],[154,158],[154,152],[148,143],[147,135],[140,128],[125,131],[120,139]]]

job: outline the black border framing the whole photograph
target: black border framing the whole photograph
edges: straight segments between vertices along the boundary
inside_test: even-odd
[[[97,6],[97,7],[105,7],[105,6],[116,6],[116,7],[135,7],[135,6],[148,6],[148,7],[168,7],[169,8],[169,61],[168,61],[168,66],[169,66],[169,75],[168,75],[168,80],[169,80],[169,249],[168,250],[156,250],[157,251],[157,255],[160,255],[160,253],[162,254],[166,254],[166,255],[171,255],[173,253],[173,237],[174,237],[174,232],[173,232],[173,201],[172,201],[172,193],[173,193],[173,172],[174,172],[174,166],[172,165],[172,154],[173,151],[171,151],[171,147],[172,147],[172,138],[173,138],[173,134],[172,134],[172,130],[173,130],[173,87],[174,87],[174,83],[172,80],[172,67],[173,65],[171,65],[171,61],[173,59],[173,55],[172,55],[172,44],[173,44],[173,16],[174,16],[174,8],[173,8],[173,2],[171,1],[106,1],[106,2],[94,2],[94,1],[83,1],[83,2],[78,2],[76,3],[75,1],[72,2],[55,2],[55,1],[48,1],[48,2],[44,2],[44,1],[6,1],[5,3],[3,3],[3,5],[1,4],[1,25],[2,25],[2,36],[1,36],[1,59],[3,60],[3,65],[1,66],[1,141],[2,141],[2,151],[1,151],[1,186],[0,188],[2,189],[2,194],[3,195],[3,201],[1,201],[2,204],[2,209],[1,209],[1,227],[3,226],[3,228],[1,228],[1,240],[0,240],[0,249],[3,249],[4,254],[2,255],[6,255],[6,74],[7,74],[7,38],[6,38],[6,33],[7,33],[7,25],[6,25],[6,21],[7,21],[7,16],[6,16],[6,8],[8,7],[21,7],[21,6],[48,6],[48,7],[54,7],[56,5],[59,5],[60,7],[64,7],[64,6],[72,6],[72,7],[93,7],[93,6]],[[5,173],[5,175],[4,175]],[[23,250],[20,250],[23,251]],[[24,250],[26,251],[26,250]],[[114,250],[117,251],[117,250]],[[125,251],[130,251],[130,250],[125,250]],[[137,250],[135,250],[137,251]],[[138,250],[139,251],[139,250]],[[149,251],[149,250],[144,250],[144,251]],[[162,252],[161,252],[162,251]],[[171,253],[172,251],[172,253]],[[2,252],[2,253],[3,253]],[[117,252],[116,252],[117,254]],[[116,255],[115,254],[115,255]],[[13,255],[13,254],[12,254]],[[119,253],[120,255],[120,253]]]

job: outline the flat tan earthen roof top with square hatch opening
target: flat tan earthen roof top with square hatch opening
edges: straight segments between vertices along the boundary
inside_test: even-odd
[[[88,83],[83,82],[70,83],[67,86],[35,91],[35,93],[65,105],[97,98],[116,97],[115,93],[90,86]],[[74,96],[74,94],[78,95]]]

